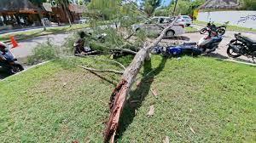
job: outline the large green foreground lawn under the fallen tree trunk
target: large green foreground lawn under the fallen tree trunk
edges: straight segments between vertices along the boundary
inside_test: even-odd
[[[127,65],[127,59],[120,61]],[[255,141],[255,67],[206,57],[153,56],[138,77],[148,72],[131,89],[119,142],[162,142],[165,136],[172,142]],[[67,68],[62,60],[9,77],[0,82],[0,142],[102,142],[109,96],[119,78]],[[158,91],[158,99],[150,89]],[[147,117],[151,105],[154,116]]]

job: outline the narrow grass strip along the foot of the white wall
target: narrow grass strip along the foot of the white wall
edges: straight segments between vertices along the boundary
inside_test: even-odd
[[[207,22],[205,22],[205,21],[194,20],[193,23],[194,24],[201,24],[201,25],[206,25],[207,26]],[[224,24],[219,24],[219,23],[214,23],[214,24],[216,26],[224,25]],[[253,29],[253,28],[246,28],[246,27],[241,27],[241,26],[231,26],[231,25],[227,26],[227,30],[228,31],[256,31],[256,29]]]

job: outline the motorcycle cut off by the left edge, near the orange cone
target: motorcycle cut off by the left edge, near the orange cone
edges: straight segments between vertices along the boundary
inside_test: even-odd
[[[9,49],[9,46],[0,42],[0,67],[10,74],[15,74],[24,70],[24,67],[15,58],[15,55]]]

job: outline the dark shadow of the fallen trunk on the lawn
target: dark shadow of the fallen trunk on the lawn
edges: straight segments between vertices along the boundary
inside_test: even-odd
[[[133,122],[137,110],[142,106],[143,100],[145,100],[145,97],[150,92],[151,84],[154,82],[154,77],[165,68],[166,60],[167,58],[162,57],[160,65],[155,69],[152,69],[151,60],[144,63],[143,79],[140,81],[141,83],[137,85],[137,89],[130,92],[130,97],[126,102],[123,113],[120,117],[119,130],[116,136],[117,139],[122,137],[127,127],[129,127]]]

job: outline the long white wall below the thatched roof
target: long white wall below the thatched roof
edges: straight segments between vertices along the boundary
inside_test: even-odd
[[[230,21],[230,25],[256,29],[256,11],[214,11],[199,12],[197,20],[214,21],[224,23]]]

